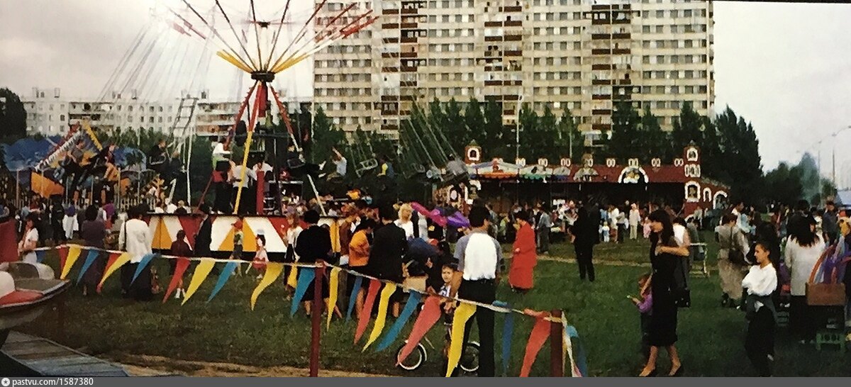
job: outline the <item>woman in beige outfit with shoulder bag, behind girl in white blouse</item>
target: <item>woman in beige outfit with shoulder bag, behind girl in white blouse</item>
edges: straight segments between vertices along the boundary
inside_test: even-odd
[[[725,213],[722,224],[715,228],[718,240],[718,276],[721,278],[722,306],[735,307],[742,298],[742,280],[747,270],[748,246],[745,234],[736,226],[739,217]]]

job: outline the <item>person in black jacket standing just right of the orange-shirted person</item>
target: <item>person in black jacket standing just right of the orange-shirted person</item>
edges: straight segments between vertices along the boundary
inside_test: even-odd
[[[402,258],[408,253],[408,241],[405,230],[395,225],[397,212],[391,205],[380,208],[381,226],[373,233],[372,250],[367,264],[369,273],[396,283],[404,281]],[[399,316],[400,292],[393,293],[393,316]]]

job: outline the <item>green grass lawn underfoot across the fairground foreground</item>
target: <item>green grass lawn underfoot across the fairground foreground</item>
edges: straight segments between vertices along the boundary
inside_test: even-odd
[[[593,376],[636,375],[643,366],[639,354],[638,314],[627,294],[637,293],[636,280],[647,267],[606,265],[606,262],[648,262],[646,242],[608,244],[595,248],[597,282],[580,282],[573,263],[541,260],[535,270],[534,290],[525,295],[500,287],[498,299],[515,307],[536,310],[565,310],[568,322],[579,330],[588,354],[588,367]],[[714,261],[714,246],[710,246]],[[554,245],[554,258],[572,259],[569,244]],[[51,265],[56,259],[49,258]],[[77,265],[79,266],[79,265]],[[167,264],[158,262],[160,273]],[[76,278],[71,274],[71,278]],[[256,310],[248,300],[256,281],[253,276],[231,278],[225,289],[209,304],[204,303],[214,285],[208,278],[199,293],[185,306],[174,299],[161,304],[130,303],[117,295],[117,276],[105,286],[104,296],[84,299],[73,291],[66,302],[66,337],[60,339],[55,314],[45,314],[26,327],[36,333],[96,356],[116,360],[134,355],[165,356],[191,361],[217,361],[249,366],[307,367],[310,344],[310,322],[303,313],[289,317],[289,301],[285,300],[282,282],[273,284],[260,296]],[[161,276],[163,286],[168,276]],[[743,348],[746,322],[738,310],[722,309],[717,276],[693,278],[693,306],[681,310],[677,347],[683,357],[688,376],[754,376]],[[162,297],[162,295],[160,295]],[[412,318],[412,322],[413,322]],[[497,316],[496,332],[501,333],[502,316]],[[390,327],[388,322],[387,327]],[[532,320],[517,316],[512,337],[509,376],[517,376],[523,359]],[[416,373],[403,373],[393,367],[397,346],[376,353],[361,351],[363,343],[352,344],[354,322],[334,320],[329,330],[323,328],[322,367],[344,371],[384,373],[411,376],[437,376],[437,350],[430,351],[427,367]],[[369,328],[371,329],[371,327]],[[403,330],[407,336],[410,327]],[[442,344],[443,327],[432,328],[431,341]],[[500,339],[497,339],[497,364],[500,364]],[[851,355],[837,350],[817,351],[812,345],[791,343],[781,330],[777,344],[777,376],[851,376]],[[660,373],[667,373],[670,363],[660,359]],[[499,368],[499,367],[498,367]],[[549,370],[547,345],[540,351],[532,375],[546,376]],[[175,370],[180,372],[181,370]],[[186,370],[184,370],[186,371]]]

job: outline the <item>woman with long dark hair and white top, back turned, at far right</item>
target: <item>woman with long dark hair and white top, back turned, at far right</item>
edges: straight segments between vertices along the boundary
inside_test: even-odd
[[[816,221],[812,216],[808,216],[804,222],[806,227],[790,230],[784,259],[786,267],[791,271],[789,331],[806,342],[815,338],[813,312],[807,305],[807,282],[821,253],[825,251],[825,241],[815,232]]]

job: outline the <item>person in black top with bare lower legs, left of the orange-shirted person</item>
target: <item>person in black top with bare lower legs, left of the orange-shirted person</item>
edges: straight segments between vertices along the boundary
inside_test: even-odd
[[[328,254],[331,253],[331,233],[328,230],[319,226],[319,213],[315,210],[310,210],[305,213],[305,222],[310,226],[301,231],[299,239],[295,242],[295,253],[299,255],[299,263],[312,264],[319,260],[327,260]],[[302,269],[305,270],[305,269]],[[308,269],[312,270],[312,269]],[[316,281],[316,280],[314,280]],[[301,301],[305,304],[307,315],[311,314],[311,301],[313,300],[314,283],[307,287],[308,291]],[[322,277],[322,298],[328,301],[328,276]],[[297,302],[294,300],[294,302]]]

